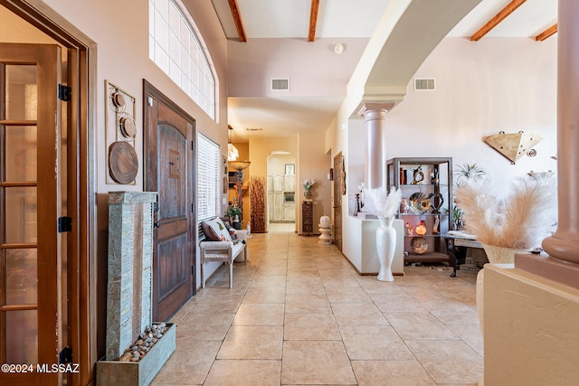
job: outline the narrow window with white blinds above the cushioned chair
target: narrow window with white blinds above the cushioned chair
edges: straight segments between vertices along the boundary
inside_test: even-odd
[[[197,216],[199,221],[218,216],[222,176],[219,145],[199,133],[197,136]]]

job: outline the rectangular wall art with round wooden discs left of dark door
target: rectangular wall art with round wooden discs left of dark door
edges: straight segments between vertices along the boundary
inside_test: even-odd
[[[105,80],[105,89],[105,135],[109,144],[107,184],[136,184],[137,99],[109,80]]]

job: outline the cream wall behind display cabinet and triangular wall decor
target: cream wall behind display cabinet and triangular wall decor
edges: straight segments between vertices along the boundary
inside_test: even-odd
[[[447,38],[416,72],[435,78],[436,90],[414,91],[388,113],[387,158],[452,156],[454,169],[477,163],[499,193],[530,170],[554,170],[556,162],[556,36],[532,39]],[[524,131],[543,141],[533,158],[516,165],[484,137]]]

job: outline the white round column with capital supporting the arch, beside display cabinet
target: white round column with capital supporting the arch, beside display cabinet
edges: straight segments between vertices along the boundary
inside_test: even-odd
[[[365,186],[375,189],[386,184],[386,141],[384,127],[386,114],[394,103],[365,103],[358,111],[364,117],[365,139]]]

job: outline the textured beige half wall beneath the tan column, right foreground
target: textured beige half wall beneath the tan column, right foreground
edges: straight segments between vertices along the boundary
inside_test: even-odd
[[[485,266],[485,385],[579,384],[579,290]]]

